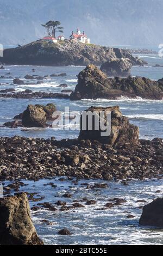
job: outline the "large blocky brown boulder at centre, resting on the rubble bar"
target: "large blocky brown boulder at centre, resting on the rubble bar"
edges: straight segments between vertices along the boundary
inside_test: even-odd
[[[95,129],[95,120],[94,118],[86,119],[86,130],[83,129],[84,114],[81,115],[81,130],[79,134],[79,140],[89,139],[90,141],[97,140],[103,144],[110,144],[114,147],[116,145],[123,145],[126,143],[137,144],[139,142],[139,128],[133,124],[129,123],[129,119],[122,115],[119,106],[115,107],[90,107],[86,112],[95,113],[99,117],[100,112],[104,112],[104,117],[101,118],[101,121],[105,125],[110,126],[110,135],[102,136],[102,130],[99,127],[98,130]],[[111,124],[106,120],[106,114],[111,113]],[[92,122],[92,130],[89,130],[88,121]],[[108,123],[107,123],[108,122]],[[82,130],[83,129],[83,130]]]

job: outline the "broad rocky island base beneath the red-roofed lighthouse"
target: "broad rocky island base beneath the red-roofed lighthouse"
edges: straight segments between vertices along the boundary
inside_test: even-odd
[[[143,60],[129,51],[98,45],[87,45],[65,40],[62,44],[45,41],[31,42],[17,48],[4,50],[3,62],[18,65],[102,65],[112,58],[128,58],[132,65],[141,65]]]

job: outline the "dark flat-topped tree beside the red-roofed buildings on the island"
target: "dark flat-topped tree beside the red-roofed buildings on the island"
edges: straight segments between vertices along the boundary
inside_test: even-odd
[[[56,32],[64,33],[62,31],[63,27],[60,27],[59,21],[48,21],[46,24],[42,24],[46,31],[48,32],[48,36],[55,38]]]

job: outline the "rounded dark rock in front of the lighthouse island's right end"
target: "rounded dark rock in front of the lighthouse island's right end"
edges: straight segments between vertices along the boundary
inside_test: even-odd
[[[101,70],[108,76],[129,76],[131,66],[129,59],[111,59],[102,64]]]

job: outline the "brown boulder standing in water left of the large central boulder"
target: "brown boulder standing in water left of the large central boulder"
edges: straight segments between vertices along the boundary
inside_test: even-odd
[[[26,127],[45,127],[46,113],[42,107],[28,105],[22,115],[22,125]]]

